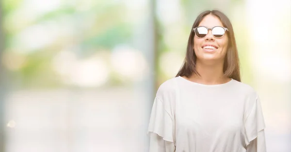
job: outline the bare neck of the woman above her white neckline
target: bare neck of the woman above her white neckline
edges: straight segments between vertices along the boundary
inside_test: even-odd
[[[224,62],[216,62],[213,64],[205,64],[196,60],[196,71],[200,74],[193,74],[191,79],[201,84],[224,84],[229,78],[224,76]]]

